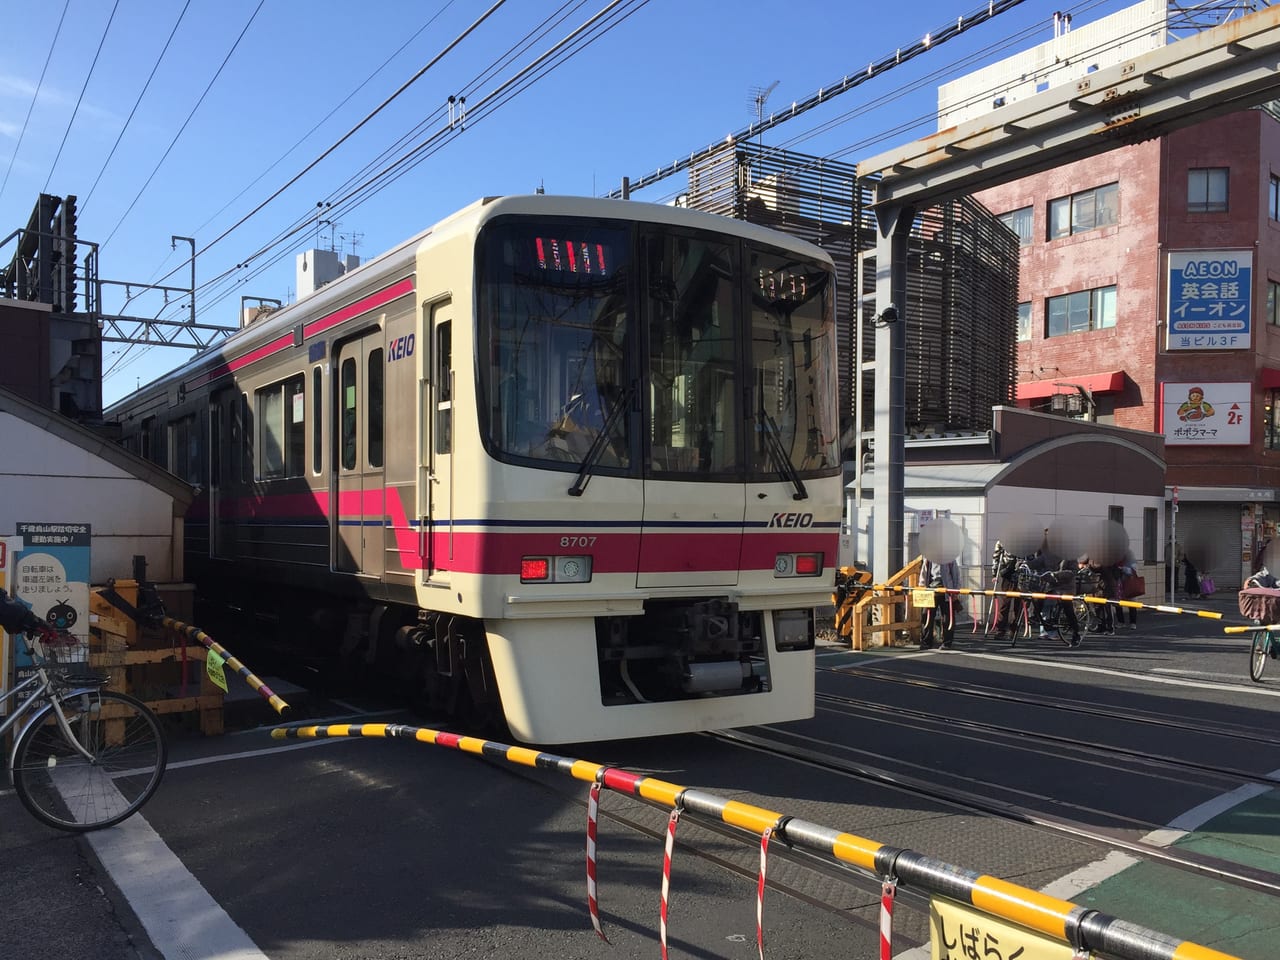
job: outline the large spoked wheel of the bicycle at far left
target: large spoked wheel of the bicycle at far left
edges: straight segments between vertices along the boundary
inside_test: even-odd
[[[141,700],[110,690],[59,694],[86,759],[58,726],[54,705],[31,718],[13,751],[13,788],[32,815],[58,829],[110,827],[134,814],[160,786],[168,748]]]

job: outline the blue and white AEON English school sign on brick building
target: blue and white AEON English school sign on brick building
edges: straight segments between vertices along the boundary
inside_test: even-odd
[[[1252,250],[1169,255],[1167,349],[1248,349],[1252,314]]]

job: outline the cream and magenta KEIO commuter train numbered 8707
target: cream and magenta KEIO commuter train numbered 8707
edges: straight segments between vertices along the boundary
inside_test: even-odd
[[[812,717],[842,508],[819,247],[486,197],[110,404],[186,577],[520,741]]]

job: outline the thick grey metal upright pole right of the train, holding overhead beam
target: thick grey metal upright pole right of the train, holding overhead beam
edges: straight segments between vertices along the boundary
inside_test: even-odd
[[[915,207],[876,209],[876,513],[872,571],[904,566],[906,479],[906,242]]]

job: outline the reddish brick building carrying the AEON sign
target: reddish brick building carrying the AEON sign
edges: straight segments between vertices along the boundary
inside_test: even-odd
[[[1239,586],[1280,524],[1274,106],[977,198],[1021,242],[1018,404],[1162,434],[1166,544]]]

